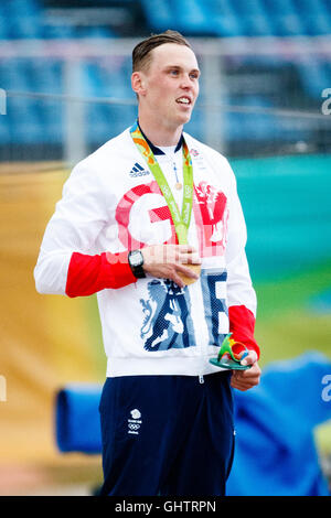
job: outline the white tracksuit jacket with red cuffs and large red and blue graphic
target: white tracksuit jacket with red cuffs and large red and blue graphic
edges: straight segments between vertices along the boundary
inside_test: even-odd
[[[167,203],[129,129],[74,168],[41,245],[40,293],[97,291],[110,377],[215,373],[209,359],[229,330],[258,352],[234,173],[224,157],[183,134],[194,179],[189,242],[202,258],[195,283],[180,289],[166,279],[136,279],[127,265],[130,249],[177,242]],[[182,175],[182,151],[156,158],[180,205],[173,162]]]

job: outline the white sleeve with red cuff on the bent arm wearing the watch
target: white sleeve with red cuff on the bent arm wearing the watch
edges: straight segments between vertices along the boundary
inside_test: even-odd
[[[127,252],[90,252],[109,220],[108,211],[98,174],[87,160],[81,162],[66,181],[62,199],[45,229],[34,268],[40,293],[89,295],[136,282]]]

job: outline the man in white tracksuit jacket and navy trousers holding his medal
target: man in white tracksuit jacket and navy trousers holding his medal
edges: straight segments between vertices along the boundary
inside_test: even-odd
[[[97,292],[107,379],[103,495],[224,495],[232,387],[259,381],[256,298],[227,161],[186,133],[194,52],[173,31],[132,53],[138,121],[74,168],[35,268],[42,293]],[[220,369],[228,332],[249,354]],[[83,432],[82,432],[83,433]]]

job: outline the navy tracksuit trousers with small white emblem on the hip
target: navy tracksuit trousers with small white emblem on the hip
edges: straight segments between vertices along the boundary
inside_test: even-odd
[[[229,376],[107,378],[100,495],[225,495],[235,440]]]

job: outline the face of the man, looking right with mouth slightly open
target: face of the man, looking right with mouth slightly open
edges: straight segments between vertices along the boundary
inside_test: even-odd
[[[189,122],[199,95],[200,71],[193,51],[175,43],[160,45],[151,51],[151,63],[140,74],[145,114],[168,128]]]

